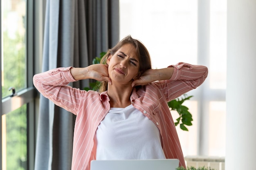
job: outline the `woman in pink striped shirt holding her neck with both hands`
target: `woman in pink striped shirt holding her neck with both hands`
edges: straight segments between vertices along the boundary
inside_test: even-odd
[[[34,85],[56,105],[76,115],[72,170],[90,170],[94,159],[184,157],[167,102],[197,88],[207,67],[178,63],[152,69],[150,55],[127,36],[85,68],[56,68],[34,75]],[[67,86],[96,79],[100,92]]]

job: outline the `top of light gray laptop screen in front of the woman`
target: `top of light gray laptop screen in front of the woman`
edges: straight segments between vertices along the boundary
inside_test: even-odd
[[[178,159],[91,161],[91,170],[176,170],[178,166]]]

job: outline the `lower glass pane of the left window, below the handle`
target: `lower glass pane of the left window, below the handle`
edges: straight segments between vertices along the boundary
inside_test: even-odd
[[[27,105],[2,115],[2,169],[27,170]]]

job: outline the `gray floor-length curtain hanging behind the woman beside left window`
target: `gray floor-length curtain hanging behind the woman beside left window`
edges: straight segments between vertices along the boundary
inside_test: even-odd
[[[42,71],[86,67],[118,41],[119,0],[47,0]],[[76,117],[42,95],[39,109],[35,170],[70,170]]]

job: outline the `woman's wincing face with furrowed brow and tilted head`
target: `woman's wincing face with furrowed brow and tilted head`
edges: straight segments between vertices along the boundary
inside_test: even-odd
[[[132,44],[124,44],[107,59],[108,74],[112,82],[118,81],[121,84],[131,84],[133,79],[138,78],[139,57]]]

